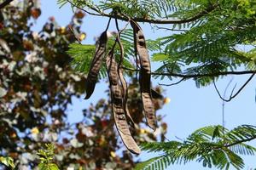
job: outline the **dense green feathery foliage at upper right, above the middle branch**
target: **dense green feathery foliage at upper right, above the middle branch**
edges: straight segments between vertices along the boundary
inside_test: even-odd
[[[157,54],[165,54],[165,57],[158,61],[169,65],[169,72],[187,75],[235,71],[240,66],[254,70],[255,46],[253,42],[256,38],[256,26],[253,23],[256,17],[254,12],[248,12],[249,10],[255,11],[253,1],[247,1],[247,5],[239,1],[229,1],[229,3],[208,1],[208,4],[203,2],[193,1],[193,4],[197,4],[198,7],[204,6],[204,8],[214,5],[218,7],[199,20],[172,26],[172,29],[182,31],[186,28],[187,31],[158,38],[156,42],[160,42],[164,50]],[[194,9],[193,12],[180,9],[177,13],[192,16],[191,13],[195,14],[197,10]],[[200,10],[197,10],[197,13]],[[251,49],[242,51],[240,47],[246,45],[246,48]],[[180,67],[182,71],[172,70],[173,65],[177,67],[177,63],[183,65]],[[160,67],[158,71],[166,71],[164,68]],[[198,87],[206,86],[212,80],[212,77],[195,78]]]

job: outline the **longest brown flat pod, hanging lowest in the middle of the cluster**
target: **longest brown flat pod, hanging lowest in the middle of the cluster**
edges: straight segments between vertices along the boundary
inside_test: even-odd
[[[110,83],[113,120],[126,148],[134,154],[140,154],[141,150],[131,136],[129,125],[126,121],[123,94],[119,84],[118,64],[113,59],[113,50],[107,56],[108,79]]]

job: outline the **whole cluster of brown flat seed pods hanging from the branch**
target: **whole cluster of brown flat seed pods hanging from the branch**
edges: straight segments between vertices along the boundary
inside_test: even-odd
[[[145,37],[141,27],[134,21],[131,21],[131,27],[134,31],[134,44],[135,51],[139,58],[140,64],[140,77],[139,84],[141,90],[141,96],[143,100],[143,112],[146,117],[148,127],[155,130],[156,128],[156,116],[154,111],[154,103],[151,97],[150,88],[150,60],[148,56],[148,50],[146,47]],[[134,154],[140,154],[141,150],[137,146],[136,141],[132,138],[130,132],[130,126],[134,125],[132,118],[130,116],[127,98],[128,98],[128,88],[123,75],[122,61],[124,57],[124,48],[122,42],[120,41],[120,32],[117,34],[116,42],[119,44],[120,48],[120,61],[116,62],[114,57],[114,43],[113,48],[106,54],[108,36],[107,31],[102,32],[101,37],[96,42],[96,54],[91,61],[90,71],[85,84],[86,96],[85,99],[89,99],[90,95],[93,93],[97,76],[99,74],[102,59],[106,56],[107,70],[109,87],[111,92],[112,101],[112,111],[113,120],[117,127],[117,131],[123,140],[126,148]]]

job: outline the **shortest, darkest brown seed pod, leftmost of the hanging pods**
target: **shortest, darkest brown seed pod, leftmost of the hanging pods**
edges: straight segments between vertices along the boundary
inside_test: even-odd
[[[107,31],[102,32],[101,37],[96,42],[96,54],[90,63],[90,70],[85,82],[86,96],[84,99],[89,99],[94,91],[97,77],[102,65],[102,58],[105,55],[106,45],[108,41]]]

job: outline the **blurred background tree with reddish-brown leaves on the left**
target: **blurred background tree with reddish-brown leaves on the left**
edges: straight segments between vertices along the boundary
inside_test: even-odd
[[[44,169],[45,162],[60,169],[134,167],[133,156],[123,148],[113,126],[109,99],[100,99],[81,113],[77,111],[83,120],[67,120],[73,99],[84,94],[86,79],[84,72],[75,71],[77,66],[70,64],[79,56],[90,56],[94,48],[73,44],[85,37],[80,31],[84,13],[75,11],[67,26],[59,26],[50,17],[40,31],[32,28],[41,14],[38,1],[15,1],[2,8],[0,14],[1,162],[12,166],[14,160],[18,169]],[[77,47],[81,54],[73,55],[72,49]],[[86,70],[84,66],[79,70]],[[136,80],[129,88],[133,96],[129,100],[131,115],[137,122],[132,133],[139,143],[155,141],[157,134],[143,128],[143,117],[136,114],[142,112]],[[161,88],[155,88],[162,93]],[[154,99],[154,105],[160,109],[164,99]],[[166,123],[161,122],[161,116],[158,119],[158,135],[164,135]],[[49,156],[51,161],[41,159],[44,163],[40,164],[37,150],[48,143],[55,144],[54,156]],[[41,150],[39,155],[45,153]]]

